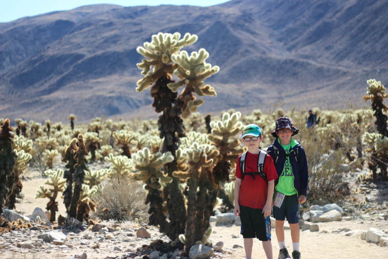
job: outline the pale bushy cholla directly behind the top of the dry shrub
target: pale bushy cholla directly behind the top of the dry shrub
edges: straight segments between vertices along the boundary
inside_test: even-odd
[[[128,178],[132,174],[133,164],[125,155],[113,155],[105,157],[105,161],[111,163],[109,167],[109,177],[120,179]]]

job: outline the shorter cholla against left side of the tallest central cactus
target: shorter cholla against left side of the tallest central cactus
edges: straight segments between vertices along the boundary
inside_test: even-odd
[[[139,150],[133,154],[133,164],[138,173],[133,179],[143,181],[148,192],[146,204],[149,203],[149,224],[160,225],[161,232],[168,231],[169,225],[163,213],[163,199],[161,183],[166,184],[172,181],[172,177],[166,176],[162,172],[163,165],[174,160],[170,152],[155,155],[151,154],[148,148]]]

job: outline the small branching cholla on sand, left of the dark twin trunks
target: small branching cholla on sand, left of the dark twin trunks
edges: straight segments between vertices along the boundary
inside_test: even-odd
[[[45,183],[49,186],[49,189],[46,189],[44,185],[39,186],[35,198],[49,198],[46,209],[50,211],[50,222],[54,222],[55,213],[58,211],[58,202],[55,200],[58,192],[65,190],[66,181],[62,179],[64,171],[62,169],[57,169],[56,171],[49,169],[44,173],[49,176],[49,179]]]

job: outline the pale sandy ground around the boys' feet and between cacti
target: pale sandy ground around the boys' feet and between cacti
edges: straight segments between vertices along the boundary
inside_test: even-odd
[[[44,184],[46,179],[32,178],[31,180],[23,181],[23,193],[24,199],[22,203],[16,204],[16,210],[23,211],[25,215],[32,213],[35,207],[41,207],[45,209],[48,199],[35,199],[36,190],[39,185]],[[60,201],[60,198],[58,199]],[[65,207],[62,202],[59,202],[59,214],[65,216]],[[57,216],[59,215],[57,214]],[[388,230],[387,221],[361,221],[361,220],[350,220],[350,221],[339,221],[329,223],[319,223],[319,232],[310,232],[309,230],[301,232],[301,244],[300,251],[302,258],[304,259],[387,259],[388,258],[388,247],[380,247],[374,243],[368,243],[360,239],[360,233],[369,229],[370,227],[376,227],[381,230]],[[212,224],[213,234],[210,239],[213,243],[223,241],[224,251],[217,253],[215,258],[228,258],[228,259],[241,259],[244,257],[244,249],[236,248],[233,249],[233,245],[238,244],[243,246],[243,239],[240,235],[239,226],[215,226]],[[350,230],[339,231],[340,229],[348,228]],[[334,233],[332,232],[334,231]],[[339,233],[335,233],[335,232]],[[161,238],[161,234],[158,233],[158,229],[150,231],[152,238]],[[238,235],[238,238],[232,238],[232,234]],[[286,245],[289,248],[291,254],[292,243],[290,230],[285,230]],[[348,236],[346,236],[348,235]],[[274,251],[274,258],[278,255],[278,245],[275,237],[275,229],[272,230],[272,246]],[[150,242],[150,241],[146,241]],[[93,253],[93,249],[87,246],[74,247],[70,250],[53,250],[49,255],[47,253],[39,254],[22,254],[6,252],[1,253],[1,259],[9,258],[71,258],[74,255],[86,252],[89,259],[102,259],[107,256],[111,258],[120,257],[125,254],[126,246],[141,246],[142,243],[126,243],[120,244],[116,242],[116,245],[122,245],[123,250],[121,252],[113,253]],[[253,259],[265,258],[261,242],[259,240],[254,241],[253,248]]]

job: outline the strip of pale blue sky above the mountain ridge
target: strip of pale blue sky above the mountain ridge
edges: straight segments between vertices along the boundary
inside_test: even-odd
[[[197,5],[210,6],[227,0],[0,0],[0,22],[8,22],[25,16],[40,15],[52,11],[70,10],[82,5],[110,3],[122,6],[135,5]]]

